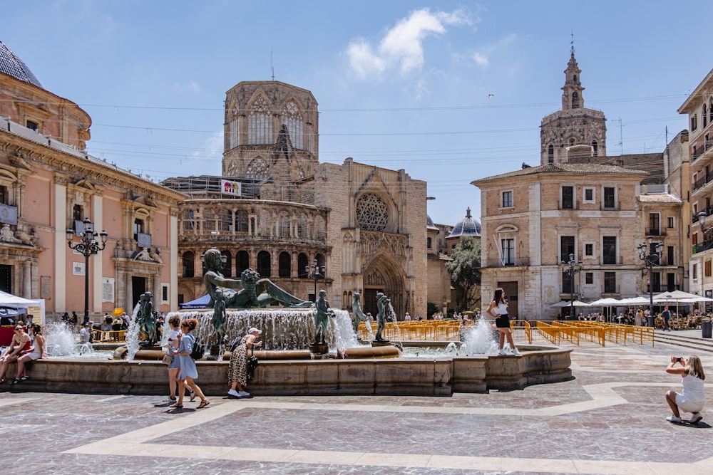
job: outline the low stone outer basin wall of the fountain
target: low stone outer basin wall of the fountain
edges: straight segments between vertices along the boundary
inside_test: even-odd
[[[415,395],[518,390],[528,385],[570,380],[570,349],[519,345],[523,356],[438,356],[433,358],[262,360],[255,396]],[[258,352],[256,352],[258,353]],[[207,395],[227,392],[227,360],[199,361],[198,384]],[[14,363],[6,377],[12,379]],[[4,385],[7,390],[9,386]],[[34,362],[30,379],[16,391],[108,395],[165,395],[166,365],[150,360],[72,360]]]

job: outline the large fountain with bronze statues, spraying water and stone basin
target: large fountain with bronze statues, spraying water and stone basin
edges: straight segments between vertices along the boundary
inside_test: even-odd
[[[213,254],[220,261],[220,253],[210,254],[215,266],[216,256]],[[254,271],[247,274],[249,279],[245,281],[232,281],[224,278],[219,268],[208,266],[208,269],[205,281],[211,296],[218,288],[225,293],[228,304],[225,324],[213,324],[213,308],[183,310],[178,315],[182,319],[196,318],[197,340],[206,346],[216,346],[218,351],[220,340],[230,343],[245,335],[250,327],[262,330],[263,349],[255,351],[261,364],[257,367],[255,380],[250,382],[253,395],[449,396],[453,392],[521,389],[571,377],[571,350],[521,345],[522,356],[494,356],[492,330],[487,320],[479,321],[464,333],[460,345],[448,344],[450,348],[446,353],[432,357],[402,357],[399,348],[383,338],[380,345],[360,343],[354,332],[354,322],[345,310],[329,309],[331,316],[327,318],[327,331],[317,333],[313,303],[290,296],[267,279],[256,277]],[[231,289],[240,288],[239,283],[246,287],[231,293]],[[272,307],[271,303],[275,301],[283,307]],[[236,304],[243,304],[245,308],[236,308]],[[380,310],[383,320],[393,312],[388,298],[384,298]],[[24,382],[21,389],[165,394],[168,389],[166,370],[160,362],[163,350],[140,348],[139,330],[135,325],[137,311],[135,308],[132,315],[128,348],[121,350],[127,359],[39,360],[35,362],[31,379]],[[175,314],[169,313],[168,318]],[[221,328],[220,334],[217,328]],[[309,350],[317,341],[316,336],[319,343],[324,336],[324,345],[328,348],[325,355],[315,355]],[[381,331],[374,335],[374,339],[379,336]],[[389,359],[384,361],[382,358]],[[223,357],[220,361],[220,355],[216,355],[213,360],[204,358],[197,362],[200,386],[208,395],[227,391],[226,360],[227,357]]]

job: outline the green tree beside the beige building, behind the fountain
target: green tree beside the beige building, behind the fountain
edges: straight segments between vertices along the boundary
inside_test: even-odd
[[[446,263],[451,273],[451,285],[460,291],[456,301],[458,310],[468,310],[480,300],[481,240],[466,236],[453,248],[452,261]]]

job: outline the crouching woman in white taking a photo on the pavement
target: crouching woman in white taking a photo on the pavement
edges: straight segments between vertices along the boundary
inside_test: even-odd
[[[669,390],[666,393],[666,402],[673,412],[673,415],[667,417],[666,420],[681,422],[681,411],[683,411],[692,413],[693,417],[689,420],[691,424],[701,422],[703,419],[701,411],[706,405],[706,392],[703,387],[706,374],[703,371],[700,358],[689,356],[687,360],[684,360],[683,357],[672,356],[666,372],[670,375],[681,375],[683,384],[682,393],[674,390]]]

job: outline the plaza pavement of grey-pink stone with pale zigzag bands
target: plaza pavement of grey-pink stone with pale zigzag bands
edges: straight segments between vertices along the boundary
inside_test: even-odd
[[[713,409],[699,424],[671,424],[664,397],[680,387],[664,371],[670,355],[698,354],[713,381],[713,353],[659,342],[572,348],[570,381],[452,397],[212,395],[205,409],[187,397],[175,412],[162,397],[3,385],[0,473],[713,473]]]

